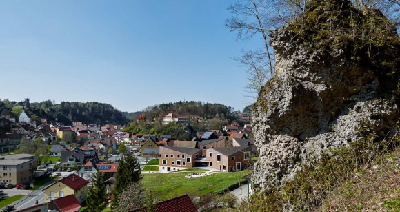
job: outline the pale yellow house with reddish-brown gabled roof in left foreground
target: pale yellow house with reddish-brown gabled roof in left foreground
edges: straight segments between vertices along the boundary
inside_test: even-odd
[[[88,180],[72,174],[43,189],[45,202],[50,202],[59,197],[74,195],[79,202],[86,200]]]

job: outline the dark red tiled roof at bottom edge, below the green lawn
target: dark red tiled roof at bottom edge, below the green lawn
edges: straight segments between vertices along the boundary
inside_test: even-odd
[[[134,209],[130,212],[145,212],[146,208]],[[155,210],[156,212],[197,212],[196,207],[194,206],[192,200],[188,195],[183,195],[180,197],[174,197],[170,200],[166,200],[163,202],[158,202]]]

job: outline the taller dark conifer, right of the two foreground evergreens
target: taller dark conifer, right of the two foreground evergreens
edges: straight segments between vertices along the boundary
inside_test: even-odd
[[[123,157],[119,162],[117,168],[117,175],[115,176],[114,199],[112,200],[112,205],[117,206],[119,201],[119,195],[125,190],[130,184],[138,182],[141,180],[141,169],[137,158],[128,155]]]

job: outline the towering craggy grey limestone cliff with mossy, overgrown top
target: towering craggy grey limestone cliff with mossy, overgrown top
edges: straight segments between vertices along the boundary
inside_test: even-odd
[[[306,21],[270,34],[276,75],[253,106],[256,191],[292,180],[301,164],[317,162],[328,148],[358,142],[361,127],[385,136],[399,120],[396,29],[372,32],[367,25],[386,18],[350,1],[311,1],[307,9]],[[371,30],[372,41],[359,28]]]

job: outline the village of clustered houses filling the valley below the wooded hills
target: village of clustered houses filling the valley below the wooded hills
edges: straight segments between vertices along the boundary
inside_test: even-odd
[[[249,117],[244,114],[239,118],[248,120]],[[163,117],[162,124],[188,124],[193,120],[206,121],[199,116],[183,117],[168,113]],[[149,124],[152,121],[139,116],[134,122]],[[232,123],[220,129],[196,132],[190,140],[178,140],[171,135],[125,132],[124,126],[120,125],[72,122],[68,126],[61,122],[48,123],[46,119],[37,123],[26,110],[17,116],[4,109],[0,115],[0,126],[3,153],[0,185],[9,189],[17,186],[26,191],[35,182],[47,181],[39,190],[32,191],[40,195],[23,197],[21,200],[28,202],[26,204],[21,204],[21,200],[13,204],[18,211],[66,211],[66,208],[81,211],[85,209],[88,188],[92,186],[92,177],[97,172],[106,177],[104,184],[111,202],[119,161],[125,155],[137,157],[141,168],[146,168],[149,160],[158,163],[143,174],[174,173],[188,168],[230,173],[249,168],[252,157],[258,155],[250,139],[251,124],[241,126]],[[43,144],[47,149],[40,151],[40,147],[33,147],[36,144]],[[50,178],[54,180],[46,180]],[[190,200],[188,196],[179,198]],[[59,202],[64,202],[63,206]]]

